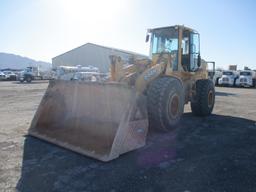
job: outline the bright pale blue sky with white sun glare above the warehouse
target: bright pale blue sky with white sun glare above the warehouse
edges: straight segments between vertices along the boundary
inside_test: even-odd
[[[184,24],[217,67],[256,69],[254,0],[0,0],[0,52],[36,60],[87,42],[148,55],[147,28]]]

